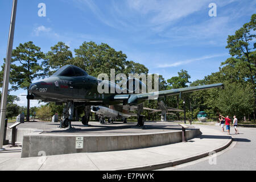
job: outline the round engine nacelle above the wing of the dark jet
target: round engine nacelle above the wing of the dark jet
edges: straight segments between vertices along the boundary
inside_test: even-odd
[[[127,93],[146,93],[146,85],[138,78],[128,78],[126,81]]]

